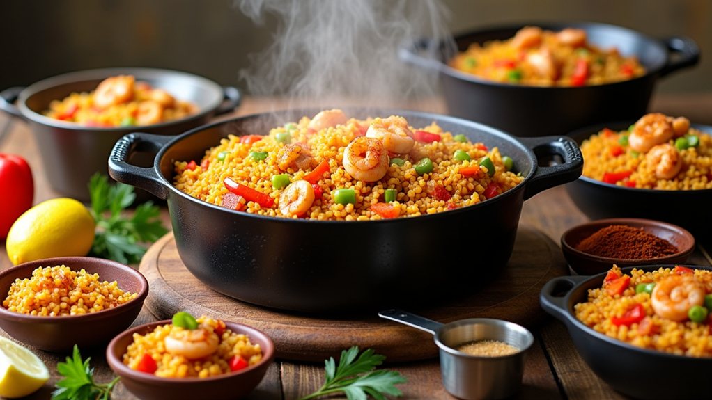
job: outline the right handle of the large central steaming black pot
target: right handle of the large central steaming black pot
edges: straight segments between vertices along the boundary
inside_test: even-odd
[[[518,139],[532,149],[537,158],[557,155],[561,156],[564,161],[555,166],[537,166],[534,176],[524,188],[524,200],[548,188],[577,180],[581,176],[583,156],[581,149],[573,139],[566,136]]]

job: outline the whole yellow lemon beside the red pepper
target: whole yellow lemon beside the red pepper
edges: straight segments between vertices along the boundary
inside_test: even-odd
[[[94,242],[94,218],[70,198],[41,202],[10,227],[7,255],[12,264],[61,256],[85,256]]]

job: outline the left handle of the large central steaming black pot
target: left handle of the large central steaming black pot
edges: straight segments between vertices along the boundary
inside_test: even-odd
[[[134,151],[157,153],[174,136],[152,135],[134,132],[119,139],[109,155],[109,175],[121,183],[142,188],[157,198],[166,200],[168,189],[154,168],[142,168],[128,163]]]

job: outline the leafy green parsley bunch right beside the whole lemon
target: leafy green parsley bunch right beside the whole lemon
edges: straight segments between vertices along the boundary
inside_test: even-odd
[[[89,181],[89,193],[97,226],[91,249],[95,256],[136,264],[146,252],[142,243],[155,242],[168,232],[159,207],[151,201],[136,207],[131,217],[124,215],[123,210],[136,199],[129,185],[110,185],[106,176],[96,173]]]

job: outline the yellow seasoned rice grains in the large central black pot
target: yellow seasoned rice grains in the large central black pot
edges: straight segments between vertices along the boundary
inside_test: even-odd
[[[349,119],[345,124],[314,132],[308,129],[310,119],[303,117],[296,124],[271,129],[267,136],[254,144],[241,143],[240,136],[230,135],[227,139],[222,139],[218,146],[209,148],[202,160],[190,163],[177,161],[174,185],[195,198],[221,205],[223,196],[228,193],[224,180],[231,178],[275,200],[274,207],[270,208],[261,207],[256,202],[246,202],[245,212],[296,218],[293,215],[283,215],[279,210],[283,189],[273,188],[271,179],[273,175],[286,173],[293,183],[302,180],[311,170],[289,167],[286,171],[281,171],[278,168],[278,153],[285,146],[276,140],[278,134],[289,134],[292,144],[307,144],[316,163],[328,161],[328,174],[318,180],[323,197],[314,200],[304,215],[313,220],[380,220],[382,216],[370,210],[370,207],[384,202],[385,190],[389,188],[397,190],[397,201],[390,204],[399,209],[400,217],[433,214],[477,204],[486,200],[486,190],[489,186],[496,188],[491,190],[492,197],[514,188],[524,179],[520,174],[506,171],[503,163],[505,155],[501,154],[498,148],[487,148],[487,144],[456,141],[453,134],[443,131],[433,123],[420,130],[439,134],[440,141],[428,144],[416,142],[414,149],[408,154],[396,156],[402,158],[404,164],[390,165],[386,175],[376,182],[356,180],[345,171],[342,158],[346,146],[355,137],[363,135],[370,121]],[[411,129],[417,130],[412,127]],[[457,150],[468,153],[471,161],[455,160],[454,152]],[[267,152],[268,156],[263,161],[254,161],[248,156],[251,151]],[[224,159],[220,160],[219,157]],[[434,170],[419,175],[414,166],[424,157],[431,159]],[[481,168],[476,175],[469,177],[459,173],[460,168],[478,166],[478,162],[485,157],[490,158],[495,166],[496,173],[493,176],[488,175],[486,168]],[[355,190],[355,204],[343,205],[335,202],[335,190],[340,188]],[[440,193],[445,190],[445,197],[449,199],[439,198],[434,194],[434,188],[439,188]]]

